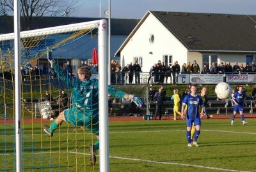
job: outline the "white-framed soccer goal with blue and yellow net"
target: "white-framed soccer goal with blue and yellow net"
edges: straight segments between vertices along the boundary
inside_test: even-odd
[[[107,22],[95,20],[20,32],[20,83],[14,80],[14,34],[0,35],[0,163],[3,171],[15,171],[15,84],[21,85],[22,171],[99,171],[108,166],[108,58]],[[70,108],[71,88],[56,76],[47,60],[47,50],[60,68],[72,66],[76,75],[81,61],[93,65],[93,49],[99,52],[100,155],[92,165],[90,145],[97,138],[83,127],[65,123],[49,138],[44,124]],[[97,65],[96,65],[97,66]],[[93,68],[93,66],[92,66]],[[97,69],[95,68],[95,71]],[[67,71],[69,72],[69,71]],[[61,104],[61,92],[67,94]],[[47,96],[50,99],[47,99]],[[3,131],[3,132],[2,132]],[[100,159],[100,161],[99,161]],[[99,164],[100,162],[100,164]]]

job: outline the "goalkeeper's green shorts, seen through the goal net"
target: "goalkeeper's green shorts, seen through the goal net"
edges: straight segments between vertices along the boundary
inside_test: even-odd
[[[99,136],[99,114],[97,115],[84,115],[81,110],[73,110],[69,108],[64,110],[65,120],[73,125],[83,125],[93,134]]]

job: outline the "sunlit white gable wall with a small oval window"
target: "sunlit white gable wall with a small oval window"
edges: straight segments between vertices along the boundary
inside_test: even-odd
[[[149,41],[150,34],[154,34],[154,43]],[[153,54],[150,55],[149,52]],[[163,55],[172,55],[173,62],[178,61],[182,64],[186,62],[187,49],[154,15],[150,14],[125,45],[120,60],[122,65],[130,62],[133,64],[133,57],[143,57],[142,71],[147,72],[154,63],[163,61]]]

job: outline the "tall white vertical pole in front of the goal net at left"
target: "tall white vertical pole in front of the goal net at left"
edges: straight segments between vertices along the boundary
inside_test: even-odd
[[[14,66],[15,66],[15,140],[16,171],[21,171],[21,131],[20,131],[20,1],[14,0]]]

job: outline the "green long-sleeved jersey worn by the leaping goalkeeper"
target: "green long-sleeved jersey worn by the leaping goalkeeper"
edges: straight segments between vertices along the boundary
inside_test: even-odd
[[[79,78],[70,76],[58,66],[56,62],[52,65],[58,77],[67,83],[72,89],[72,109],[84,111],[85,115],[97,115],[99,113],[99,80],[88,79],[84,82]],[[108,94],[113,97],[123,98],[125,92],[108,85]]]

